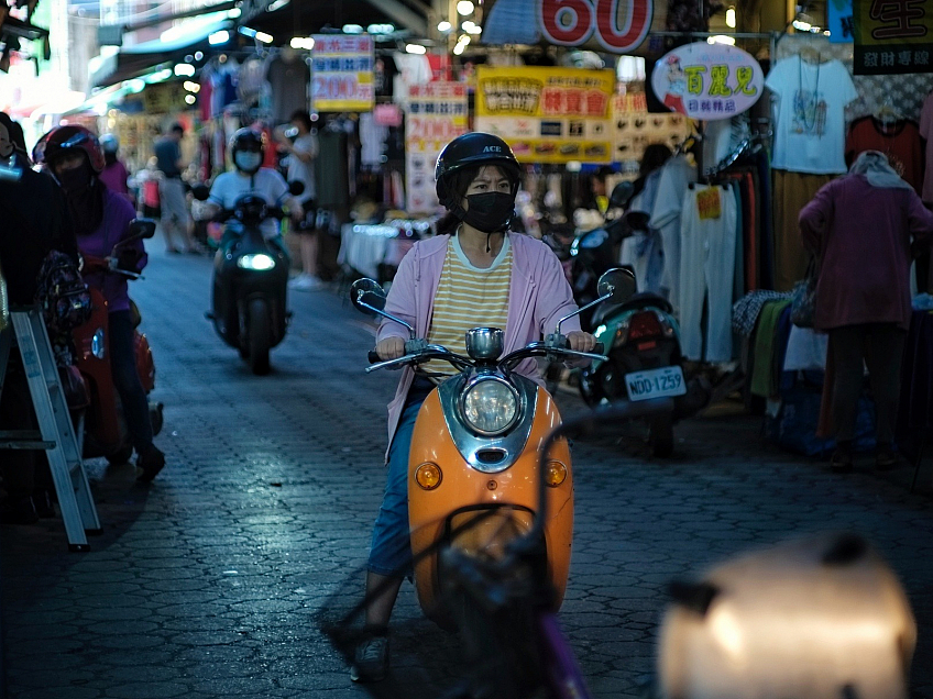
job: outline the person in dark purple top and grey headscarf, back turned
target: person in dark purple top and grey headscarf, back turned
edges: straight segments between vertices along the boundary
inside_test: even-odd
[[[865,365],[877,410],[875,465],[892,468],[901,357],[911,318],[910,265],[933,237],[933,212],[883,153],[866,151],[847,176],[824,185],[803,208],[800,231],[820,270],[813,326],[830,334],[837,443],[832,468],[853,468]]]

